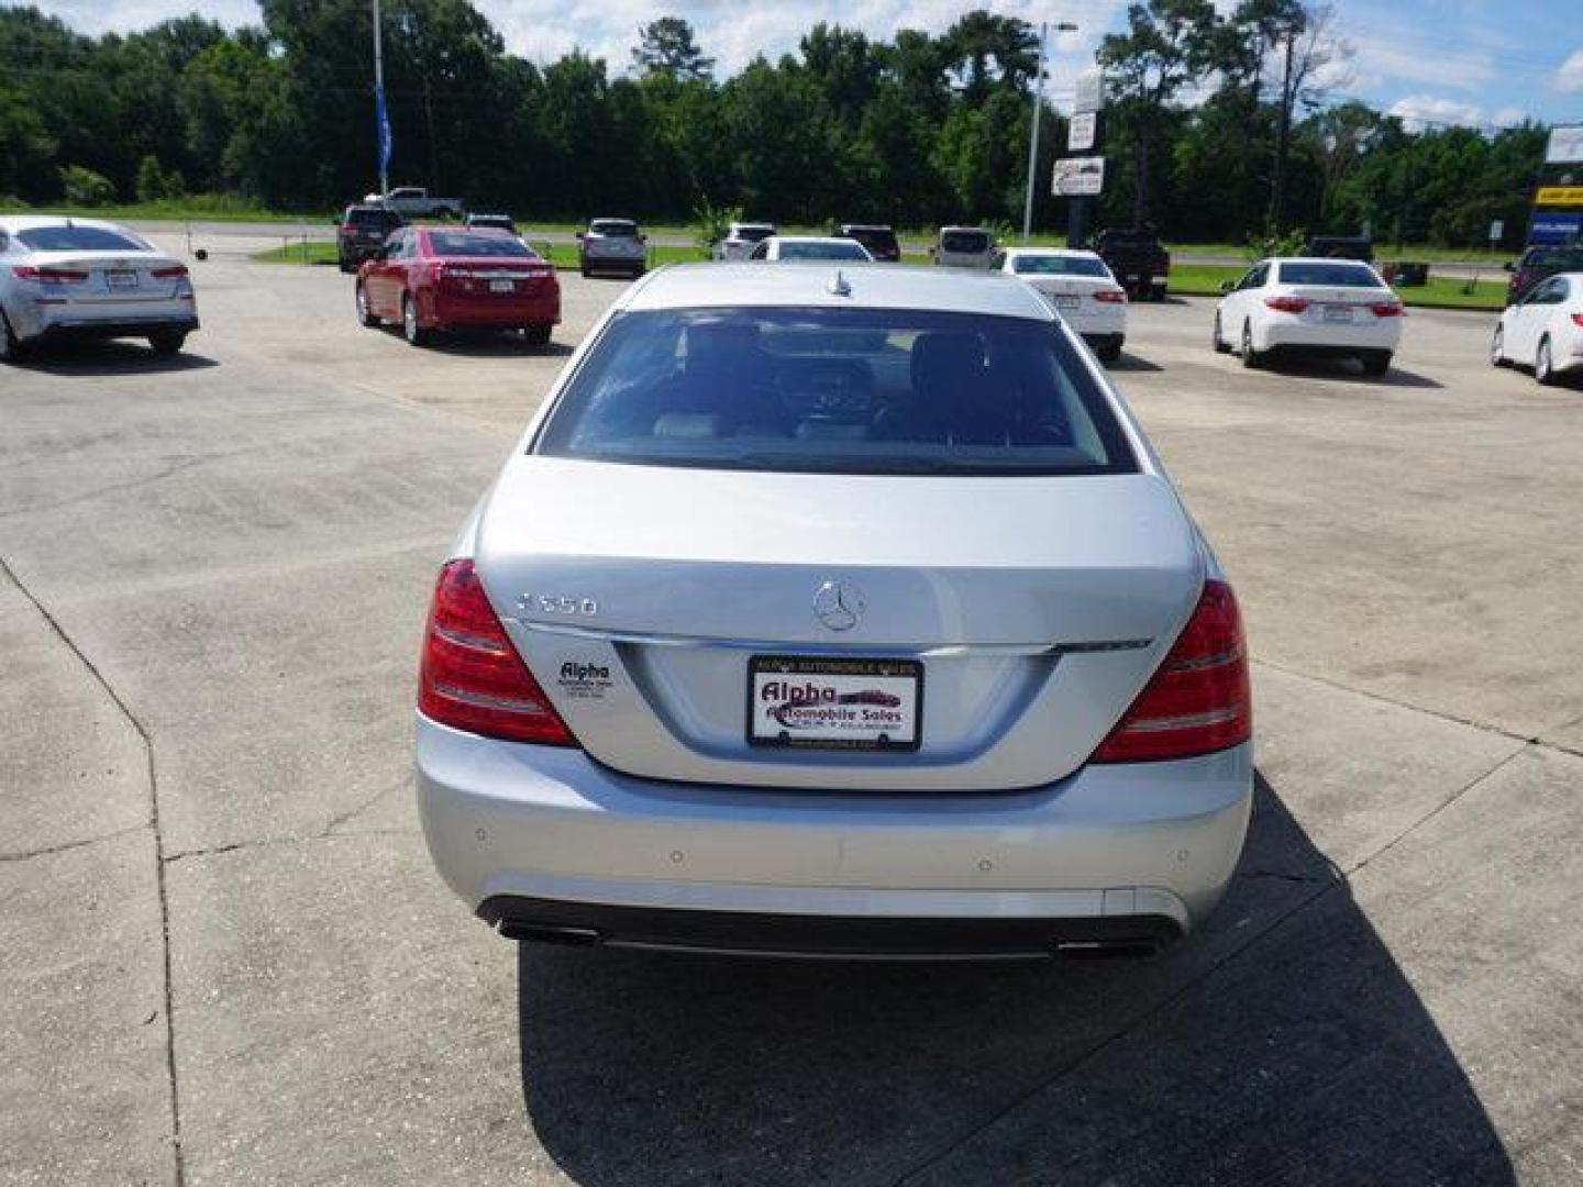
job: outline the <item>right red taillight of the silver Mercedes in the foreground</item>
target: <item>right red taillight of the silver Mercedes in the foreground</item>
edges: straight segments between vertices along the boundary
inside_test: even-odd
[[[1100,742],[1092,761],[1189,758],[1238,745],[1252,733],[1243,616],[1230,586],[1206,581],[1165,662]]]

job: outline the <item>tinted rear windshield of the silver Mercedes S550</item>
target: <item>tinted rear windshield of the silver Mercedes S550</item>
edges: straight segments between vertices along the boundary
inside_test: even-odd
[[[533,451],[796,473],[1137,470],[1053,324],[917,310],[621,313]]]

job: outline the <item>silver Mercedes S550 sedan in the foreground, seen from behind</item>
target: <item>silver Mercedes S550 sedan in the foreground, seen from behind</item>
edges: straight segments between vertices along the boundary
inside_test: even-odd
[[[440,570],[418,796],[511,937],[1145,951],[1232,877],[1251,728],[1236,600],[1032,288],[689,266]]]

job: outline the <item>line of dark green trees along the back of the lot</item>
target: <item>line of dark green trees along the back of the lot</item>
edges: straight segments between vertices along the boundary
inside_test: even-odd
[[[0,8],[0,201],[236,195],[331,209],[375,188],[367,0],[261,0],[261,24],[199,16],[85,36]],[[1304,0],[1149,0],[1099,51],[1100,225],[1178,241],[1292,228],[1482,244],[1521,234],[1545,130],[1410,128],[1341,93],[1346,43]],[[507,52],[469,0],[386,0],[393,184],[519,218],[796,223],[1019,222],[1038,30],[967,11],[874,40],[817,24],[796,52],[717,78],[685,21],[635,30],[630,62]],[[1065,222],[1046,108],[1035,226]]]

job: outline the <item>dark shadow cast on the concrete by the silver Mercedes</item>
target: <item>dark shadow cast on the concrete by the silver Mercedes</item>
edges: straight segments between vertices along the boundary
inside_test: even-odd
[[[1260,779],[1225,902],[1145,961],[522,945],[527,1121],[576,1182],[1515,1182],[1412,984]]]

